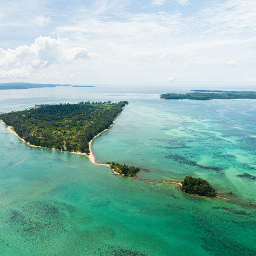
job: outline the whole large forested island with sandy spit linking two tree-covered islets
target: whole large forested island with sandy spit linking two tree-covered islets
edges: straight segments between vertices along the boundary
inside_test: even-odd
[[[106,131],[115,117],[123,110],[127,101],[79,102],[78,104],[35,105],[21,111],[1,113],[0,120],[8,125],[24,143],[36,147],[69,151],[89,157],[96,165],[109,167],[114,174],[134,177],[156,183],[174,183],[183,192],[215,197],[215,190],[206,180],[187,176],[183,182],[148,180],[137,177],[140,168],[115,162],[96,163],[91,152],[93,139]]]

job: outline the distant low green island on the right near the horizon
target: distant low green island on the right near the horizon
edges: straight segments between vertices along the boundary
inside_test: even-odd
[[[161,99],[256,99],[253,91],[224,91],[224,90],[192,90],[194,93],[165,93]]]

